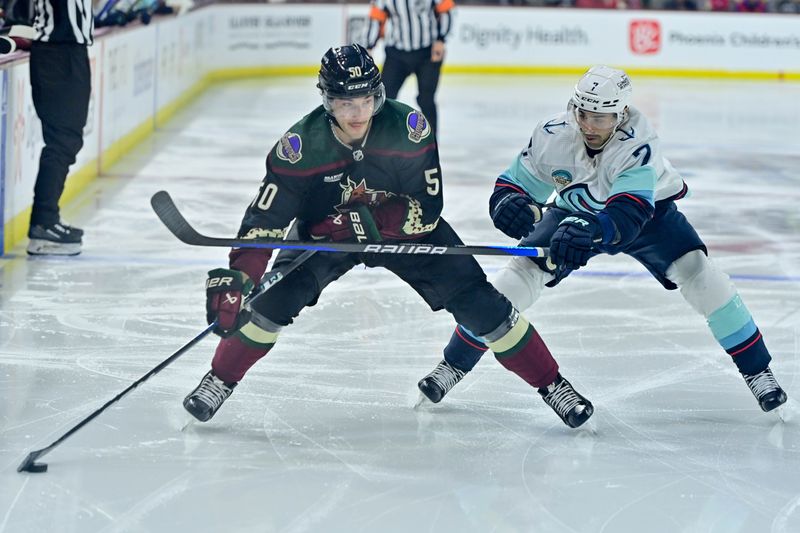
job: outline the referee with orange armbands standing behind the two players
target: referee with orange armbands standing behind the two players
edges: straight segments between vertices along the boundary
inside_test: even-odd
[[[397,98],[403,82],[417,76],[417,104],[436,131],[434,96],[450,32],[453,0],[372,0],[366,48],[383,37],[386,62],[381,75],[387,98]],[[388,22],[388,24],[387,24]]]

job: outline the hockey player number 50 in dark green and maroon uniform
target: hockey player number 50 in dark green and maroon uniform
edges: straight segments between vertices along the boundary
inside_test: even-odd
[[[387,100],[380,73],[359,45],[322,58],[322,104],[292,126],[267,156],[267,174],[247,208],[241,238],[462,244],[441,217],[442,172],[435,135],[418,111]],[[299,251],[284,250],[275,268]],[[446,309],[486,339],[500,363],[536,388],[571,427],[592,404],[562,378],[536,330],[486,280],[470,256],[318,252],[242,312],[243,296],[266,270],[271,251],[239,248],[229,268],[209,272],[207,318],[223,337],[211,371],[184,400],[209,420],[245,373],[272,348],[282,328],[314,305],[322,290],[356,265],[384,267],[433,310]]]

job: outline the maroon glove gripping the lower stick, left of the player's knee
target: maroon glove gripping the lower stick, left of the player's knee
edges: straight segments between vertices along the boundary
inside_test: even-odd
[[[242,313],[244,297],[253,290],[253,281],[240,270],[215,268],[206,280],[206,321],[217,321],[214,333],[230,337],[248,317]]]

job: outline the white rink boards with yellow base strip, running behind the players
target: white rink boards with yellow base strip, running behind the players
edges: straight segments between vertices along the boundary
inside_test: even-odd
[[[360,39],[367,7],[209,6],[98,35],[84,147],[62,203],[208,83],[313,73],[327,47]],[[449,73],[577,74],[608,63],[638,75],[796,81],[800,28],[791,15],[460,7],[447,54]],[[0,252],[7,252],[27,232],[42,136],[27,56],[9,56],[0,72]]]

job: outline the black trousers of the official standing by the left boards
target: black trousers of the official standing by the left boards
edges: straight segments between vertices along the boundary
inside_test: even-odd
[[[44,148],[33,190],[31,226],[59,221],[58,200],[70,165],[83,146],[91,71],[86,46],[34,42],[30,57],[33,106],[42,121]]]

